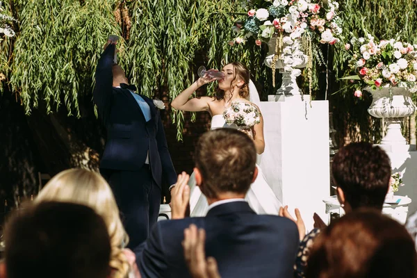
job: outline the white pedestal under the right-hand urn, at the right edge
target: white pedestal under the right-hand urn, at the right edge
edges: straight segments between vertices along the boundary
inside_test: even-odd
[[[408,196],[411,198],[408,216],[417,211],[417,152],[416,145],[379,145],[386,151],[391,160],[393,172],[402,172],[402,182],[395,195]]]

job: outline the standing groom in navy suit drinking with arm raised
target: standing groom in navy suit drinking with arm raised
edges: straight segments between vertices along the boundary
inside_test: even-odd
[[[177,174],[158,109],[128,85],[122,67],[113,64],[114,54],[109,40],[95,74],[93,97],[107,129],[100,172],[113,189],[130,238],[127,247],[134,250],[158,220],[161,195]]]

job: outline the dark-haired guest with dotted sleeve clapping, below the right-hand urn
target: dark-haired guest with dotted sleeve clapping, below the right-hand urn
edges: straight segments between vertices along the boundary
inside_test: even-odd
[[[339,149],[334,156],[332,177],[336,185],[338,201],[346,214],[358,208],[375,208],[382,211],[385,195],[389,189],[391,162],[380,147],[368,142],[353,142]],[[281,208],[279,215],[291,218],[287,207]],[[318,216],[315,218],[316,222],[320,221],[320,218],[317,218]],[[304,223],[298,215],[295,222],[299,227],[302,241],[295,260],[294,277],[304,278],[309,250],[320,229],[313,229],[303,239]]]

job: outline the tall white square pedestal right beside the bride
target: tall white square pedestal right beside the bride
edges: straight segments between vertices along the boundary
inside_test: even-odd
[[[313,228],[313,213],[327,219],[322,200],[329,196],[329,104],[304,95],[262,101],[265,140],[274,167],[268,183],[293,214],[300,208],[306,228]],[[261,168],[271,167],[261,165]],[[270,172],[270,171],[268,171]]]

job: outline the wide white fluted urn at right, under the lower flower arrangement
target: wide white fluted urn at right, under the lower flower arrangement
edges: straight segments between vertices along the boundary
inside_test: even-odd
[[[404,117],[410,117],[416,112],[409,88],[391,87],[391,95],[388,86],[376,90],[366,87],[365,90],[373,98],[368,113],[373,117],[384,118],[387,124],[386,136],[382,138],[381,145],[407,145],[401,133],[401,122]]]

